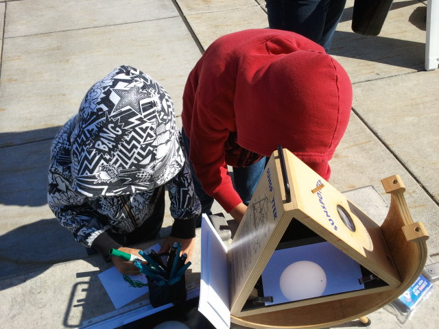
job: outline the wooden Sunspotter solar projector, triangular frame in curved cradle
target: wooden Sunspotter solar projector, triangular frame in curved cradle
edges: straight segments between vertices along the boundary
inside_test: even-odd
[[[381,182],[391,202],[379,226],[294,154],[274,151],[227,252],[231,321],[326,328],[364,318],[407,290],[425,266],[428,235],[423,223],[412,221],[401,178]],[[361,288],[267,303],[272,296],[261,278],[274,252],[322,241],[357,263]]]

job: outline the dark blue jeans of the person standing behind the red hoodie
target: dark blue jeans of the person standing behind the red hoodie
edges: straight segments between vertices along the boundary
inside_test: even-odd
[[[325,51],[342,17],[346,0],[266,0],[270,29],[296,32]]]

